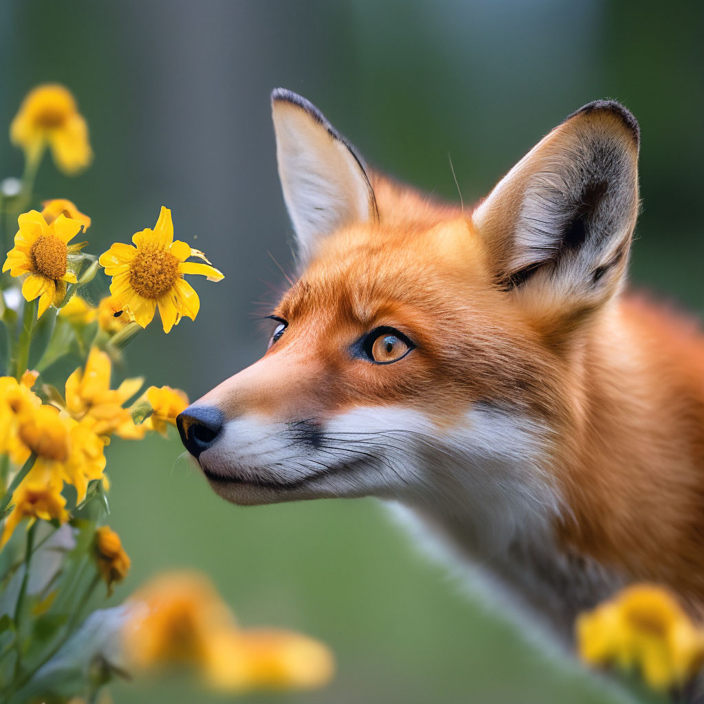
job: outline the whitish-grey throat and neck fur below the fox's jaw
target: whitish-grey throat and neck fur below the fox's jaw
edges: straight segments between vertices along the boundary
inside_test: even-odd
[[[432,496],[403,503],[460,562],[486,572],[520,610],[565,642],[574,617],[623,583],[586,553],[567,548],[558,526],[570,508],[555,483],[551,432],[497,408],[467,418],[472,450],[455,437],[436,453]],[[433,460],[429,460],[433,461]],[[434,551],[436,552],[436,551]],[[441,551],[446,553],[446,551]]]

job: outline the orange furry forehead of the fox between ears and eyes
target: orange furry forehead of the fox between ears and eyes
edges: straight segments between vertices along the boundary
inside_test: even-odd
[[[370,325],[403,306],[417,313],[436,314],[438,306],[450,312],[490,298],[493,289],[482,242],[469,218],[420,231],[364,224],[321,244],[277,314],[292,320],[335,311]]]

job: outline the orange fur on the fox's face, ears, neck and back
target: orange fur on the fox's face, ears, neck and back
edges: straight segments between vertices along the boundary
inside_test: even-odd
[[[298,108],[311,110],[295,101],[286,109]],[[306,243],[310,260],[273,311],[288,322],[285,334],[196,405],[217,407],[225,420],[282,424],[398,407],[418,410],[441,430],[465,423],[477,404],[518,411],[549,429],[543,469],[563,502],[550,519],[554,549],[704,604],[704,337],[672,311],[620,293],[638,153],[637,127],[620,110],[575,113],[474,213],[375,172],[354,183],[357,163],[345,161],[337,134],[315,113],[306,134],[318,140],[317,158],[335,145],[331,158],[344,162],[345,183],[361,194],[354,208],[362,221]],[[529,286],[512,283],[513,228],[536,177],[552,177],[592,144],[620,179],[605,192],[622,189],[624,205],[614,212],[623,224],[605,217],[608,233],[620,227],[622,234],[595,254],[589,286],[560,274],[577,255],[542,263]],[[577,178],[573,171],[565,170],[565,183]],[[368,184],[374,217],[364,220]],[[379,325],[406,334],[413,353],[384,366],[351,356],[351,341]],[[268,490],[256,499],[279,500]]]

